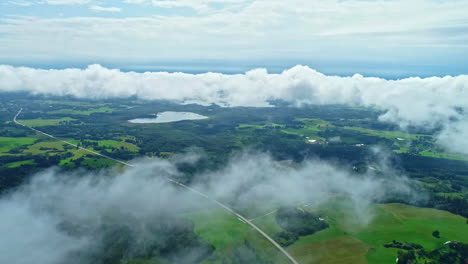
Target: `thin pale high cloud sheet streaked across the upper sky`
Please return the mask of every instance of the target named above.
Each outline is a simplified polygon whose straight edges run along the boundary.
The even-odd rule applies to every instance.
[[[55,3],[84,0],[62,1]],[[212,3],[156,4],[202,8]],[[36,59],[371,57],[411,61],[415,56],[427,59],[430,53],[434,60],[441,56],[445,61],[447,53],[458,50],[463,57],[468,49],[466,1],[234,0],[221,5],[226,8],[195,16],[183,12],[164,16],[154,8],[150,17],[3,18],[0,34],[6,37],[0,54]]]

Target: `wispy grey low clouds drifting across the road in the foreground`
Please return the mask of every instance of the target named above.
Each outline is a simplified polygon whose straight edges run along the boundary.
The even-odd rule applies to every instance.
[[[64,263],[73,252],[100,248],[101,236],[113,225],[125,226],[134,241],[144,245],[147,240],[162,240],[148,237],[145,228],[150,223],[202,206],[194,194],[165,180],[179,175],[174,163],[144,160],[136,165],[115,176],[49,169],[1,197],[0,262]],[[372,218],[371,200],[411,193],[405,178],[391,169],[385,171],[389,175],[353,176],[349,170],[322,161],[293,168],[266,154],[244,154],[220,171],[198,175],[194,188],[235,208],[298,202],[319,205],[341,193],[353,201],[365,224]],[[63,226],[84,231],[77,235]],[[127,254],[131,257],[132,252]]]

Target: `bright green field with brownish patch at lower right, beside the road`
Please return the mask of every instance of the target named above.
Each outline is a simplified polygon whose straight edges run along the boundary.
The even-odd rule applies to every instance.
[[[426,249],[441,247],[444,242],[468,242],[466,218],[446,211],[417,208],[403,204],[374,204],[368,224],[358,219],[352,204],[335,200],[320,208],[330,227],[300,239],[287,250],[302,264],[306,263],[394,263],[397,249],[384,244],[397,240],[422,245]],[[306,208],[304,208],[306,209]],[[281,229],[275,214],[255,220],[270,236]],[[439,230],[441,237],[432,236]]]

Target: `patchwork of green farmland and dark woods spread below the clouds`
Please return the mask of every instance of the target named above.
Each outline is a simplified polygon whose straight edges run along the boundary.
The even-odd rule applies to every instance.
[[[63,98],[38,98],[28,104],[17,98],[3,105],[0,190],[16,187],[31,172],[50,166],[59,166],[63,171],[78,168],[100,171],[117,165],[15,125],[11,119],[21,105],[24,107],[18,117],[21,123],[123,161],[140,157],[172,161],[178,155],[196,153],[201,157],[198,162],[178,165],[178,177],[184,183],[190,183],[205,171],[222,168],[233,155],[246,149],[269,153],[275,161],[286,162],[292,168],[312,158],[346,164],[342,169],[356,177],[369,171],[378,176],[385,167],[369,153],[382,149],[387,151],[389,166],[401,170],[426,194],[420,202],[404,197],[370,202],[372,217],[356,214],[353,204],[346,199],[332,199],[314,208],[302,206],[323,217],[329,227],[300,236],[286,247],[300,263],[394,263],[399,249],[384,247],[393,240],[416,243],[426,250],[440,248],[447,240],[467,242],[464,230],[468,215],[468,158],[441,149],[434,139],[437,131],[401,131],[382,125],[374,110],[336,106],[230,109]],[[168,110],[194,112],[209,119],[165,124],[128,122]],[[277,206],[270,206],[270,213],[265,216],[262,215],[268,212],[258,212],[254,207],[239,210],[252,218],[262,216],[254,223],[275,237],[284,231],[272,211]],[[225,211],[202,207],[180,217],[193,223],[197,237],[214,247],[205,264],[285,263],[268,242]],[[440,232],[440,238],[432,235],[435,230]],[[247,258],[240,257],[239,252],[244,252]],[[124,263],[155,262],[166,260],[135,259]]]

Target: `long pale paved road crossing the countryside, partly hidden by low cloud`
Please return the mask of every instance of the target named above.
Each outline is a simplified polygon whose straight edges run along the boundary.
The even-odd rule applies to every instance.
[[[44,133],[40,130],[37,130],[35,128],[32,128],[32,127],[28,127],[24,124],[21,124],[20,122],[18,122],[18,120],[16,120],[18,118],[18,116],[21,114],[21,112],[23,111],[23,108],[21,108],[18,113],[13,117],[13,122],[15,122],[16,124],[20,125],[20,126],[23,126],[23,127],[27,127],[37,133],[40,133],[44,136],[47,136],[47,137],[50,137],[52,139],[55,139],[57,141],[60,141],[60,142],[63,142],[65,144],[68,144],[68,145],[71,145],[71,146],[74,146],[75,148],[79,148],[79,149],[82,149],[84,151],[87,151],[89,153],[92,153],[94,155],[97,155],[97,156],[100,156],[100,157],[103,157],[103,158],[106,158],[106,159],[110,159],[110,160],[113,160],[115,162],[118,162],[120,164],[123,164],[125,166],[129,166],[129,167],[135,167],[135,165],[132,165],[130,163],[127,163],[127,162],[124,162],[124,161],[121,161],[121,160],[117,160],[117,159],[114,159],[114,158],[111,158],[109,156],[106,156],[106,155],[103,155],[101,153],[98,153],[98,152],[95,152],[95,151],[92,151],[92,150],[89,150],[89,149],[86,149],[86,148],[83,148],[83,147],[78,147],[76,144],[73,144],[71,142],[68,142],[68,141],[65,141],[65,140],[62,140],[62,139],[59,139],[53,135],[50,135],[50,134],[47,134],[47,133]],[[252,223],[250,220],[248,220],[247,218],[243,217],[242,215],[240,215],[239,213],[236,213],[233,209],[231,209],[230,207],[228,207],[227,205],[221,203],[220,201],[216,200],[216,199],[213,199],[211,197],[209,197],[208,195],[200,192],[200,191],[197,191],[183,183],[180,183],[172,178],[169,178],[169,177],[166,177],[166,179],[176,185],[179,185],[180,187],[186,189],[186,190],[189,190],[193,193],[196,193],[204,198],[206,198],[207,200],[211,201],[211,202],[214,202],[215,204],[217,204],[218,206],[220,206],[221,208],[225,209],[226,211],[230,212],[231,214],[237,216],[237,218],[239,218],[242,222],[248,224],[249,226],[251,226],[253,229],[255,229],[258,233],[260,233],[263,237],[265,237],[273,246],[275,246],[285,257],[288,258],[288,260],[293,263],[293,264],[299,264],[283,247],[281,247],[280,244],[278,244],[273,238],[271,238],[267,233],[265,233],[262,229],[260,229],[258,226],[256,226],[254,223]]]

